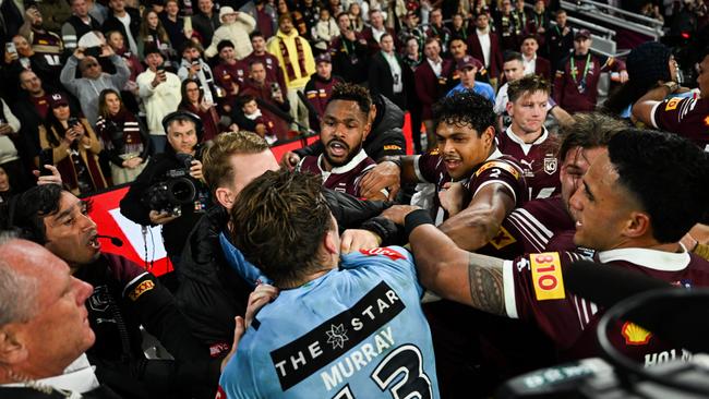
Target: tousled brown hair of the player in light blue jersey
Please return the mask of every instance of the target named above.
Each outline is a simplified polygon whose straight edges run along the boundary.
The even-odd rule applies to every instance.
[[[322,178],[281,169],[249,183],[231,208],[231,238],[278,287],[322,267],[319,249],[334,228]]]

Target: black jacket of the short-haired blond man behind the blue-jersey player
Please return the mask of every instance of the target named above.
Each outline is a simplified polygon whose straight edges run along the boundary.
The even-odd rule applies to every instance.
[[[366,220],[389,206],[332,190],[325,190],[324,195],[340,233],[349,228],[365,228]],[[245,314],[249,293],[253,290],[253,282],[245,281],[225,259],[219,233],[226,230],[228,220],[224,207],[209,209],[190,232],[177,268],[180,287],[176,297],[180,309],[190,323],[192,335],[217,356],[229,350],[233,341],[233,317]],[[366,229],[385,241],[397,234],[394,223],[382,220]]]

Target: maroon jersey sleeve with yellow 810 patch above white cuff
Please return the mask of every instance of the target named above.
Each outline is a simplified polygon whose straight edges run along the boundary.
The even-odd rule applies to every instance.
[[[534,322],[558,347],[572,347],[598,312],[593,303],[564,287],[563,268],[579,258],[574,253],[546,252],[505,262],[507,315]]]

